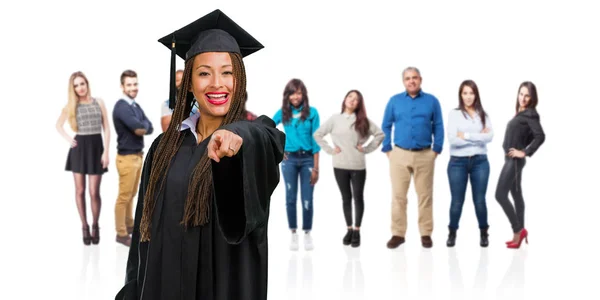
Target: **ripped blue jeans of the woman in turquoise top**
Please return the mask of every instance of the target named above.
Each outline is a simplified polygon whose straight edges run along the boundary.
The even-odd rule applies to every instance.
[[[313,190],[310,175],[314,167],[314,156],[309,152],[286,152],[287,159],[281,162],[281,172],[285,181],[285,206],[290,229],[298,228],[296,206],[298,203],[298,177],[302,199],[302,230],[312,229]]]

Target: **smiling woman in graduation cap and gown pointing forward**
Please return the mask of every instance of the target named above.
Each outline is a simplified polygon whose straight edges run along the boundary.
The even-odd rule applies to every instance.
[[[267,299],[269,203],[285,134],[265,116],[245,120],[242,61],[263,46],[219,10],[159,41],[185,69],[172,122],[144,162],[116,299]]]

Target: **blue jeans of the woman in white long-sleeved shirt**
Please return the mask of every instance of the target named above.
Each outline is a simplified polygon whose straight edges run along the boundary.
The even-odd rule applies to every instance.
[[[450,225],[448,225],[450,230],[458,229],[469,179],[471,180],[471,191],[479,228],[488,228],[485,194],[489,176],[490,164],[485,154],[470,157],[450,157],[448,163],[448,181],[450,182],[450,193],[452,194]]]

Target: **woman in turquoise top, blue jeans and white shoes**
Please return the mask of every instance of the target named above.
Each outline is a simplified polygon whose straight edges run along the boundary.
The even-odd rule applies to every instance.
[[[298,178],[300,178],[300,195],[302,206],[302,230],[304,231],[304,249],[312,250],[313,240],[310,235],[313,219],[313,191],[319,179],[319,151],[321,147],[313,138],[319,128],[319,113],[308,105],[306,86],[300,79],[290,80],[283,90],[281,109],[273,117],[275,124],[283,123],[286,133],[285,158],[281,163],[283,180],[285,181],[285,206],[288,226],[292,231],[290,250],[296,251],[298,245]]]

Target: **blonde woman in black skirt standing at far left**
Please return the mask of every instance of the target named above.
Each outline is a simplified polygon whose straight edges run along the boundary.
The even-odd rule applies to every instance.
[[[64,130],[67,121],[76,133],[74,137],[70,137]],[[73,172],[75,179],[75,200],[83,229],[83,243],[96,245],[100,242],[100,181],[108,171],[110,127],[104,101],[91,96],[89,81],[82,72],[75,72],[69,78],[69,98],[56,122],[56,130],[71,145],[65,169]],[[85,204],[86,175],[92,204],[91,233]]]

